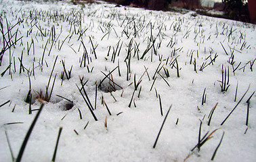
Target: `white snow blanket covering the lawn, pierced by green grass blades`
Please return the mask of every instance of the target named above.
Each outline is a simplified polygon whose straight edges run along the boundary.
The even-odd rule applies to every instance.
[[[14,158],[17,158],[24,137],[41,105],[38,93],[42,91],[45,97],[45,87],[57,56],[49,83],[50,90],[56,75],[51,99],[49,102],[44,101],[43,111],[28,139],[22,161],[51,161],[59,128],[63,130],[56,161],[211,161],[223,132],[225,134],[214,161],[255,161],[255,25],[200,16],[194,12],[183,15],[115,7],[104,2],[72,5],[70,1],[2,0],[0,3],[1,24],[3,33],[6,33],[6,41],[3,34],[0,36],[0,46],[3,48],[9,39],[14,43],[23,36],[15,47],[12,46],[1,54],[1,74],[10,62],[12,64],[0,81],[0,104],[10,101],[0,107],[0,161],[12,161],[10,150]],[[22,21],[14,26],[19,20]],[[145,49],[152,46],[150,26],[153,39],[156,38],[154,47],[140,59]],[[51,28],[55,28],[55,37],[50,34]],[[54,41],[51,38],[54,38]],[[84,53],[81,41],[89,57],[89,64],[86,59],[85,67],[83,63],[80,67]],[[127,59],[125,62],[125,58],[130,42],[131,71],[127,80],[129,61]],[[52,43],[54,44],[51,48]],[[118,43],[119,47],[116,48]],[[120,47],[120,53],[116,53],[113,61],[113,49],[119,51]],[[137,47],[139,51],[135,53]],[[19,59],[22,53],[24,72],[21,70],[20,73]],[[175,59],[179,67],[179,77]],[[70,79],[64,76],[63,82],[62,60],[66,71],[70,71],[72,66]],[[200,71],[203,63],[207,67]],[[119,68],[116,68],[118,65],[121,76]],[[159,69],[162,66],[163,68],[156,73],[154,81],[152,78],[158,65]],[[222,66],[224,70],[226,68],[227,75],[229,70],[230,87],[226,92],[221,92],[220,86]],[[148,74],[145,71],[147,68]],[[169,71],[169,77],[164,68]],[[95,82],[99,85],[105,77],[104,74],[107,75],[112,70],[114,72],[110,78],[123,89],[115,85],[116,90],[110,93],[97,88],[97,106],[93,113],[98,121],[95,121],[77,88],[81,88],[79,76],[83,77],[83,84],[88,80],[84,88],[94,107]],[[32,114],[28,114],[29,104],[25,102],[29,90],[28,74],[33,97]],[[134,76],[136,84],[142,76],[137,90],[134,90]],[[108,87],[108,82],[110,80],[107,78],[102,87]],[[237,84],[237,97],[234,101]],[[202,105],[204,90],[207,99]],[[65,110],[70,102],[56,94],[72,101],[74,107]],[[249,124],[246,126],[246,102],[252,94],[249,102]],[[158,95],[161,97],[163,115]],[[132,96],[131,106],[128,107]],[[102,97],[112,115],[108,113],[106,105],[102,104]],[[211,125],[208,126],[209,113],[216,104]],[[156,148],[152,148],[170,106],[171,110]],[[232,109],[234,111],[221,126],[221,122]],[[200,151],[198,148],[191,151],[198,144],[200,120],[201,139],[207,132],[210,134],[216,129],[217,131],[211,135],[213,138],[200,147]],[[89,124],[85,128],[88,121]],[[104,126],[105,121],[107,127]],[[9,124],[13,122],[21,123]]]

